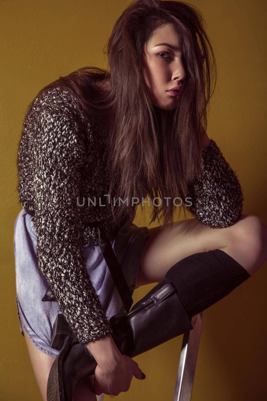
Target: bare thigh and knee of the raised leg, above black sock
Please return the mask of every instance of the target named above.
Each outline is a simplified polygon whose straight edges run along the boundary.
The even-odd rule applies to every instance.
[[[263,261],[256,260],[256,252],[256,256],[251,253],[255,261],[249,260],[246,252],[246,248],[252,246],[251,237],[258,237],[258,225],[261,224],[258,224],[254,216],[242,214],[233,225],[220,229],[208,227],[194,218],[177,221],[167,229],[149,229],[150,236],[141,253],[136,287],[159,283],[178,261],[212,249],[224,250],[244,268],[249,269],[253,263],[255,266],[260,265]],[[247,238],[247,243],[242,238]]]

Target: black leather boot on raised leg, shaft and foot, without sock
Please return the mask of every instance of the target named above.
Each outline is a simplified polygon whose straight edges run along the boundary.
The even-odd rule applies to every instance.
[[[48,401],[72,401],[76,385],[91,376],[97,365],[86,345],[77,341],[64,320],[64,316],[58,314],[52,334],[51,346],[60,349],[60,353],[49,373]],[[110,324],[117,348],[130,357],[193,328],[175,287],[166,279],[137,302],[130,312],[112,316]]]

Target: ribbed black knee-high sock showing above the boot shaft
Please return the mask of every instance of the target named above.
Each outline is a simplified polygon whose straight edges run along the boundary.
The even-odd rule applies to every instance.
[[[249,277],[251,275],[221,249],[187,256],[165,275],[177,288],[189,318],[224,298]]]

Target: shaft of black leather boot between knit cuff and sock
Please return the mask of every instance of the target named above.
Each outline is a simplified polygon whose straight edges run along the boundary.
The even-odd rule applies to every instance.
[[[143,354],[192,330],[175,286],[163,279],[130,312],[110,318],[112,338],[122,354]]]

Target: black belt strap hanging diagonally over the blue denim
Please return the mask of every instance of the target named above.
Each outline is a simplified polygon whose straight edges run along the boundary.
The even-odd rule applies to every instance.
[[[26,209],[26,207],[24,207],[24,210],[29,215],[35,216],[35,212],[33,210]],[[103,222],[102,221],[93,221],[93,222],[90,222],[88,225],[96,226],[98,229],[98,243],[99,243],[100,249],[102,251],[102,254],[104,256],[104,259],[106,261],[108,269],[110,270],[110,273],[112,275],[114,283],[116,284],[116,287],[118,289],[118,293],[120,294],[120,298],[124,305],[125,311],[129,312],[130,307],[132,306],[132,303],[133,303],[133,299],[132,299],[132,296],[130,293],[130,288],[128,287],[128,284],[126,282],[126,279],[124,277],[124,274],[122,272],[120,264],[118,263],[118,259],[116,258],[116,255],[112,249],[110,241],[106,235],[106,232],[104,231],[104,228],[102,227]],[[46,299],[44,299],[44,300],[46,300]]]

